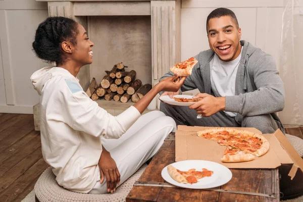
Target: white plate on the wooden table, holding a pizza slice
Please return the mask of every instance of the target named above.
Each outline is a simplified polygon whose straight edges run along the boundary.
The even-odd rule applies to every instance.
[[[193,184],[183,184],[175,181],[168,173],[167,166],[162,170],[161,175],[165,181],[173,185],[190,188],[190,189],[207,189],[221,186],[227,183],[231,177],[231,171],[225,166],[212,161],[204,160],[186,160],[170,164],[173,167],[181,171],[187,171],[189,169],[195,168],[197,171],[201,171],[206,168],[210,171],[214,171],[211,177],[204,177],[198,180],[197,183]]]

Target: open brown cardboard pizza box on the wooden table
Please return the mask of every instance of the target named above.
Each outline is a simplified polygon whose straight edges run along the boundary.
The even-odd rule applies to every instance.
[[[292,169],[288,174],[291,178],[294,177],[298,168],[303,171],[303,160],[279,129],[273,134],[262,134],[256,128],[236,128],[262,134],[269,141],[270,149],[265,155],[256,157],[253,161],[224,163],[221,162],[221,158],[226,146],[221,146],[213,140],[198,137],[196,134],[197,131],[210,128],[212,127],[179,125],[176,131],[175,161],[207,160],[222,164],[227,168],[247,169],[274,169],[281,164],[292,164]]]

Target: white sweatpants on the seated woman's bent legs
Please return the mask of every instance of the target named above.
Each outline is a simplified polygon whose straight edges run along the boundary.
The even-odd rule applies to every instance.
[[[120,172],[120,184],[153,157],[167,135],[176,130],[175,121],[163,112],[153,111],[142,115],[119,139],[102,138],[103,146],[110,151]],[[98,176],[99,179],[99,176]],[[106,180],[89,193],[107,193]]]

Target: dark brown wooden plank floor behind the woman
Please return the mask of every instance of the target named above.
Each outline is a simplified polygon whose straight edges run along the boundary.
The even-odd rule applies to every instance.
[[[286,133],[303,139],[303,127]],[[21,201],[48,167],[41,154],[33,115],[0,114],[0,201]]]

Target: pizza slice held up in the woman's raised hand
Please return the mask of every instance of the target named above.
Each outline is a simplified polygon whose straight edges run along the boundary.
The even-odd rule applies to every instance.
[[[179,76],[189,76],[193,66],[197,63],[198,61],[195,58],[190,58],[181,63],[177,63],[174,67],[170,68],[170,71]]]

